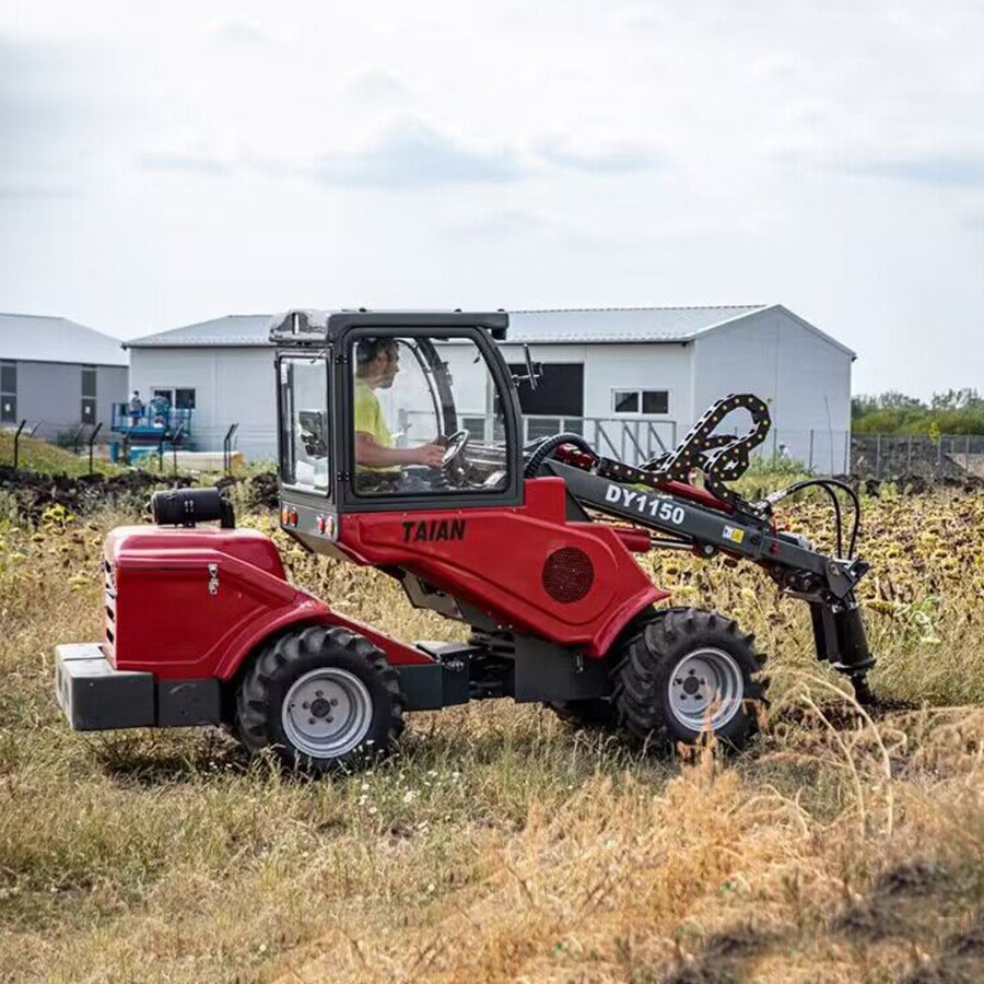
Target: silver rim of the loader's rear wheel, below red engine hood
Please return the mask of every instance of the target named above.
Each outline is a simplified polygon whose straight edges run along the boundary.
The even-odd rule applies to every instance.
[[[365,738],[373,721],[373,699],[354,673],[323,667],[294,681],[284,698],[281,721],[297,751],[313,759],[337,759]]]

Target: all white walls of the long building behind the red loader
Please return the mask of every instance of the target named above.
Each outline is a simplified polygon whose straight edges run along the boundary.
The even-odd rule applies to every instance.
[[[502,350],[506,362],[524,361],[522,345],[504,344]],[[631,414],[617,418],[637,427],[634,437],[644,452],[659,450],[654,434],[670,444],[716,399],[750,390],[769,401],[776,429],[775,437],[763,448],[765,453],[782,442],[793,457],[804,461],[812,453],[818,470],[843,469],[841,459],[851,420],[851,356],[781,309],[742,318],[733,327],[686,344],[546,344],[531,345],[530,352],[537,362],[584,365],[586,418],[616,419],[613,389],[667,389],[669,412],[653,419],[656,423],[649,433],[651,419]],[[484,372],[473,363],[473,352],[444,345],[443,354],[461,395],[459,411],[483,414]],[[236,446],[248,459],[276,458],[272,348],[132,349],[130,380],[130,388],[139,389],[144,399],[155,387],[195,388],[196,447],[221,449],[230,424],[238,423]],[[79,386],[73,391],[79,391]],[[78,414],[78,407],[74,412]],[[736,423],[741,425],[740,421]],[[396,429],[398,422],[393,421],[391,426]],[[585,437],[597,442],[594,425],[587,426]],[[614,442],[614,446],[599,443],[604,453],[618,455],[630,449],[619,444],[618,426],[604,426]],[[633,437],[628,440],[631,443]]]

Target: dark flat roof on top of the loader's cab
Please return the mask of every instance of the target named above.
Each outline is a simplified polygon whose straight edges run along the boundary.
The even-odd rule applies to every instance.
[[[292,308],[270,319],[270,341],[280,345],[326,344],[349,328],[484,328],[504,341],[509,316],[504,311],[316,311]]]

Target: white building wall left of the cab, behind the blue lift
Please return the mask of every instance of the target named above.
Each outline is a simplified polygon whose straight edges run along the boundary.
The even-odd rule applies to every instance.
[[[277,384],[272,348],[130,350],[130,389],[147,402],[155,388],[195,389],[191,436],[199,450],[221,450],[237,423],[235,447],[248,460],[277,456]]]

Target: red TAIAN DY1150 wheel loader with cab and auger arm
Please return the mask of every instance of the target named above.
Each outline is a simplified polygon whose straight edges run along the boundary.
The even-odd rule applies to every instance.
[[[225,724],[250,751],[320,773],[386,751],[409,711],[513,698],[656,743],[711,731],[740,748],[763,657],[727,616],[659,605],[668,593],[633,558],[652,549],[763,567],[809,605],[818,657],[868,700],[853,492],[812,479],[752,503],[729,488],[770,426],[749,394],[642,467],[577,434],[524,445],[517,385],[539,373],[528,353],[506,364],[507,327],[504,313],[367,311],[293,311],[271,327],[281,527],[386,572],[467,642],[390,639],[292,585],[218,490],[159,492],[156,525],[106,538],[103,641],[57,648],[71,726]],[[807,484],[837,506],[836,557],[773,522]],[[840,493],[854,506],[846,550]]]

